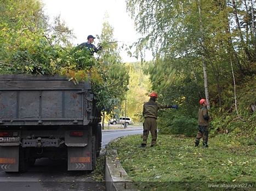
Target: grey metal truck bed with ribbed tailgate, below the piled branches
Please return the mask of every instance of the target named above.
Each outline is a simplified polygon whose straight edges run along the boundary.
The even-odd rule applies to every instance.
[[[0,127],[98,123],[89,82],[57,75],[0,75]]]

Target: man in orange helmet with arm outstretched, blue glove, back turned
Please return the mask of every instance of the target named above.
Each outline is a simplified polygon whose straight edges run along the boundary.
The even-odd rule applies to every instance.
[[[178,109],[177,105],[163,105],[156,102],[157,94],[152,92],[150,94],[149,102],[146,102],[143,105],[143,116],[145,121],[143,123],[143,143],[139,147],[146,147],[147,145],[147,137],[149,136],[149,132],[152,136],[151,147],[156,144],[157,139],[157,127],[156,127],[156,119],[157,119],[157,111],[159,109],[164,108],[176,108]]]

